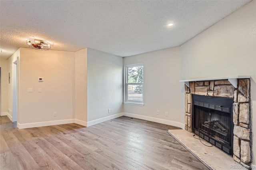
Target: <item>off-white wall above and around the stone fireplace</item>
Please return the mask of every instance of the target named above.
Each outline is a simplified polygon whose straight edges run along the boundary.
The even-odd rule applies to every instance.
[[[181,79],[252,77],[253,163],[256,164],[256,1],[181,46]],[[184,95],[181,93],[181,95]],[[181,98],[182,105],[184,98]],[[184,110],[181,111],[181,114]]]

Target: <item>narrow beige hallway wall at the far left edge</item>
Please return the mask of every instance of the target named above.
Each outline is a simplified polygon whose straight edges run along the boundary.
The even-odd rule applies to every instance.
[[[8,67],[7,60],[1,59],[1,113],[8,112]]]

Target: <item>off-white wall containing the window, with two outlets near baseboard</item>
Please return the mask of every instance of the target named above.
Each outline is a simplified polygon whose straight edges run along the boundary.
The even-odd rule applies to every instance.
[[[180,47],[124,57],[124,65],[137,63],[144,64],[144,106],[125,104],[124,112],[180,123]]]

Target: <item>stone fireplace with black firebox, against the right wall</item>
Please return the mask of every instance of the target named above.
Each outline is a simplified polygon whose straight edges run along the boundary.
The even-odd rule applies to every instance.
[[[226,99],[229,103],[232,100],[228,106],[226,103],[210,103],[211,99],[220,99],[220,102]],[[204,116],[195,116],[198,108],[200,115]],[[186,130],[208,139],[208,142],[231,154],[236,162],[244,166],[251,164],[250,78],[185,82],[185,112]],[[220,120],[225,114],[227,118]]]

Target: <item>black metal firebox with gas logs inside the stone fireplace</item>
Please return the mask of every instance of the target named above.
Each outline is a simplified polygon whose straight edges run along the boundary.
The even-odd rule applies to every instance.
[[[233,99],[193,95],[192,131],[233,155]]]

